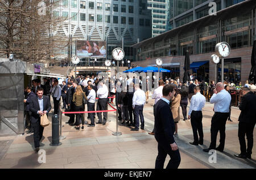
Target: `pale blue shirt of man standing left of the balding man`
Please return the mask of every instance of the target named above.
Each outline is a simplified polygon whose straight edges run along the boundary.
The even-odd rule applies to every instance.
[[[192,111],[201,111],[204,105],[205,105],[205,97],[200,92],[197,92],[191,98],[188,115],[190,116]]]

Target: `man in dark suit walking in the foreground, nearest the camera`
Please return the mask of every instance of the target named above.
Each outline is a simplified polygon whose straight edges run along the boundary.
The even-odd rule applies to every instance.
[[[167,154],[171,157],[166,169],[177,169],[180,165],[180,152],[174,140],[175,124],[170,108],[175,86],[165,85],[163,97],[155,104],[155,139],[158,141],[158,156],[155,169],[163,169]]]

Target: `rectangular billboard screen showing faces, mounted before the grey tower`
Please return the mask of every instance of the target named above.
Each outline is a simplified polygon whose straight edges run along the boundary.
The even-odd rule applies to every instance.
[[[76,55],[79,57],[106,57],[106,41],[77,40]]]

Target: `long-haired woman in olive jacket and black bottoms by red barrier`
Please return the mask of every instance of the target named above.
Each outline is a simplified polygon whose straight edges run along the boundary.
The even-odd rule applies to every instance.
[[[82,91],[82,87],[80,85],[76,86],[76,93],[73,94],[73,102],[75,104],[75,111],[84,111],[84,101],[88,100],[84,91]],[[84,114],[76,114],[76,129],[80,129],[80,118],[82,122],[82,129],[84,129]]]

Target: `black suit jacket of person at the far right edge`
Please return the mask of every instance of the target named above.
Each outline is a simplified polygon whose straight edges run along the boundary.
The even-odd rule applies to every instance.
[[[242,101],[239,105],[241,110],[238,121],[245,123],[256,122],[256,95],[253,92],[249,92],[242,97]]]

